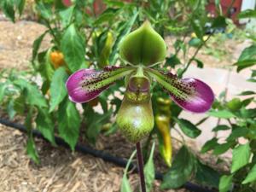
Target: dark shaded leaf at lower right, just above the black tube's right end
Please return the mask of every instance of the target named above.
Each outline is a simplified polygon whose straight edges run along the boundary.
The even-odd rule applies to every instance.
[[[196,164],[195,180],[206,186],[218,188],[219,173],[212,167],[202,164],[199,160]]]

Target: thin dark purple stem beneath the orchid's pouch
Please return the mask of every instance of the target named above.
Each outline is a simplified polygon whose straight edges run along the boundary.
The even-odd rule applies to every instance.
[[[137,163],[138,163],[138,169],[139,169],[139,175],[141,179],[141,189],[142,192],[146,192],[146,184],[145,184],[145,176],[143,171],[143,153],[141,148],[141,143],[136,143],[137,148]]]

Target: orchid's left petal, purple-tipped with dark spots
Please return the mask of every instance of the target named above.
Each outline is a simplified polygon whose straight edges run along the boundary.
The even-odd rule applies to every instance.
[[[131,73],[131,67],[106,67],[97,72],[93,69],[81,69],[67,79],[67,92],[73,102],[89,102],[108,89],[114,81]]]

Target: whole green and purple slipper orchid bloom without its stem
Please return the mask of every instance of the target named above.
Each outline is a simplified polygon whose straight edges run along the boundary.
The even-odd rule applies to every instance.
[[[157,81],[178,106],[203,113],[212,106],[212,89],[199,79],[178,79],[169,72],[155,70],[166,57],[166,44],[148,21],[128,34],[119,46],[128,65],[105,67],[102,71],[81,69],[67,79],[67,91],[73,102],[89,102],[118,79],[125,78],[125,96],[117,114],[119,129],[132,143],[146,137],[154,127],[150,84]]]

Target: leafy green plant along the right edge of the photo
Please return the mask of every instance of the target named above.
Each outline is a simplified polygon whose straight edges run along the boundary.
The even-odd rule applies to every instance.
[[[241,12],[239,18],[255,17],[254,10]],[[255,61],[255,39],[249,36],[253,43],[243,49],[238,61],[234,64],[237,73],[247,67],[253,67]],[[251,77],[247,81],[255,83],[256,71],[251,70]],[[225,138],[225,142],[219,144],[219,137],[213,137],[201,148],[202,153],[209,150],[213,154],[224,154],[227,150],[232,150],[232,162],[230,171],[226,172],[219,182],[219,191],[255,191],[256,172],[255,172],[255,128],[256,128],[256,108],[255,91],[246,90],[237,97],[226,101],[225,92],[219,96],[209,114],[225,119],[227,124],[217,125],[212,131],[230,130],[230,135]]]

